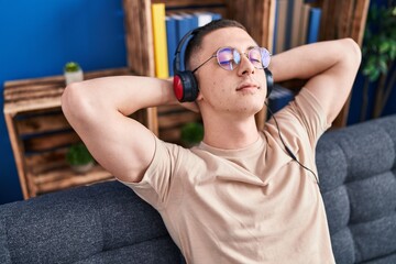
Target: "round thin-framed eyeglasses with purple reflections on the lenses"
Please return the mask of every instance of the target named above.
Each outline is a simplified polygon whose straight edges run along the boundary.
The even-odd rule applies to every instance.
[[[265,47],[251,47],[248,50],[248,53],[242,54],[245,55],[257,69],[266,68],[270,65],[271,53]],[[221,68],[226,70],[233,70],[241,64],[242,54],[234,47],[220,47],[210,58],[196,67],[193,70],[193,74],[213,57],[217,58]]]

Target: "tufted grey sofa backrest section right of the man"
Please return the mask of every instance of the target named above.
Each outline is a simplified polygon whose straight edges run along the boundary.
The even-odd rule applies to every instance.
[[[396,116],[327,132],[316,155],[337,263],[396,263]]]

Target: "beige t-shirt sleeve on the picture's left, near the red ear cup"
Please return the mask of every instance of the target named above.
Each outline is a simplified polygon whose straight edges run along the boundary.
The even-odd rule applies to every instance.
[[[154,157],[140,183],[122,182],[155,209],[166,206],[174,184],[173,172],[182,147],[166,143],[155,136]],[[175,194],[172,194],[175,195]]]

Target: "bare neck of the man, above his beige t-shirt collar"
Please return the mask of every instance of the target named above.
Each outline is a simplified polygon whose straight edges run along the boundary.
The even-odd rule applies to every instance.
[[[209,119],[204,121],[204,142],[210,146],[223,150],[243,148],[258,139],[254,117],[237,119]]]

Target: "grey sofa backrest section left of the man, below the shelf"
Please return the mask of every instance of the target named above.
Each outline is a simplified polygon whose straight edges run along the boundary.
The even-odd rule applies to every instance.
[[[0,207],[0,263],[179,263],[160,215],[118,182]]]

